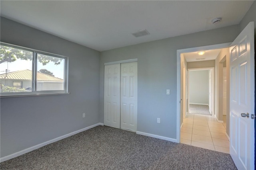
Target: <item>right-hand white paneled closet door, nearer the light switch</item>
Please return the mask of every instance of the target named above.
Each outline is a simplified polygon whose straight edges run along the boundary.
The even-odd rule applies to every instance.
[[[121,128],[137,130],[137,62],[121,64]]]

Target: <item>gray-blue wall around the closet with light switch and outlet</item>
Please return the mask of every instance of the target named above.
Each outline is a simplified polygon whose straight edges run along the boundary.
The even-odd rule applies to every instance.
[[[238,33],[238,25],[233,25],[101,52],[100,121],[104,121],[104,63],[138,58],[137,130],[176,139],[177,50],[232,42]]]

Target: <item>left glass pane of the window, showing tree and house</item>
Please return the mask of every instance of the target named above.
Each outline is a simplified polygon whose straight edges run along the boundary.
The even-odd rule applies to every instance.
[[[0,53],[1,96],[2,93],[29,92],[22,88],[22,82],[23,86],[32,86],[33,52],[0,45]]]

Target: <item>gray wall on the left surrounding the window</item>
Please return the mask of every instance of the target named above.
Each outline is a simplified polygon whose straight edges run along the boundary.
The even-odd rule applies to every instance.
[[[1,18],[1,41],[69,57],[69,95],[1,98],[1,157],[99,123],[100,53]],[[86,117],[82,118],[82,113]],[[102,115],[101,115],[102,116]]]

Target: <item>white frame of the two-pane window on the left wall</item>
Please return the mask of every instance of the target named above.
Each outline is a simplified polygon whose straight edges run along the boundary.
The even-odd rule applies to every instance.
[[[45,95],[58,95],[58,94],[69,94],[68,92],[68,57],[57,55],[54,53],[48,53],[45,51],[30,49],[26,47],[21,47],[18,45],[12,45],[9,43],[0,42],[0,45],[6,46],[6,47],[12,47],[16,49],[31,51],[33,53],[33,59],[32,59],[32,83],[31,88],[32,92],[4,92],[0,93],[0,98],[6,98],[6,97],[22,97],[22,96],[45,96]],[[44,90],[44,91],[36,91],[36,74],[37,74],[37,54],[42,55],[49,55],[52,57],[58,57],[61,59],[64,59],[64,90]]]

